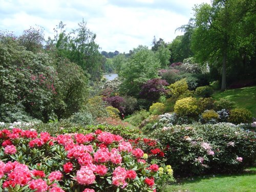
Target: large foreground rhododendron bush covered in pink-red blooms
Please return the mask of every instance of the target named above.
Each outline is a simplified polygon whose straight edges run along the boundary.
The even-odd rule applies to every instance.
[[[140,148],[100,130],[52,137],[14,128],[0,131],[0,143],[0,187],[9,191],[153,191],[159,178]]]

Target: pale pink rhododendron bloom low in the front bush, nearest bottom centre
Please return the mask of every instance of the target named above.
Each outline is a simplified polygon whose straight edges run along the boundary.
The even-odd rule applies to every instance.
[[[94,183],[95,175],[91,169],[82,166],[76,173],[76,180],[81,185],[89,185]]]

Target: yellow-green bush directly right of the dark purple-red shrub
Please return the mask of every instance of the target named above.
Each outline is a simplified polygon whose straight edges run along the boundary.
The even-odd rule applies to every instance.
[[[173,97],[179,97],[185,94],[186,92],[188,92],[188,85],[187,85],[186,78],[183,78],[179,81],[176,81],[173,84],[170,84],[168,86],[168,89],[170,90],[170,94]]]

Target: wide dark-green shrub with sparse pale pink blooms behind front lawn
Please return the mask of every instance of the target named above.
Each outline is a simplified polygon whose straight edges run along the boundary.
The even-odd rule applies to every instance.
[[[179,175],[237,172],[254,162],[255,136],[231,123],[160,127],[150,134],[162,146],[170,146],[165,157]]]

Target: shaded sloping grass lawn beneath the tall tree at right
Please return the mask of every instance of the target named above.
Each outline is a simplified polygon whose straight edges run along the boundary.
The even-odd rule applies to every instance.
[[[256,117],[256,86],[216,92],[212,97],[215,99],[225,98],[235,101],[237,102],[237,107],[250,110],[252,116]]]

